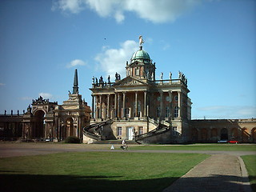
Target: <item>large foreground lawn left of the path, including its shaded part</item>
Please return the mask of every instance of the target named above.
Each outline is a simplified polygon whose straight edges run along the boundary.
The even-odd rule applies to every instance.
[[[0,158],[0,191],[162,191],[207,157],[78,152]]]

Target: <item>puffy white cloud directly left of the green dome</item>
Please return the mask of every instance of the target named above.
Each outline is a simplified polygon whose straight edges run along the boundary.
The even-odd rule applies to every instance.
[[[126,61],[130,61],[132,54],[138,50],[138,42],[131,40],[121,43],[120,46],[119,49],[102,47],[102,53],[94,58],[98,62],[98,68],[103,70],[106,76],[110,75],[112,81],[116,72],[121,74],[121,78],[126,76]]]

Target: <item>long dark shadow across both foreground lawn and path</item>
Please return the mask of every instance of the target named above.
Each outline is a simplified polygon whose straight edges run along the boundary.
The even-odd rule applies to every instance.
[[[117,178],[118,180],[114,180]],[[162,191],[177,178],[155,178],[142,180],[122,180],[122,176],[74,176],[74,175],[28,175],[0,174],[0,191],[47,191],[47,192],[150,192]],[[170,191],[242,191],[243,178],[236,176],[212,175],[207,178],[181,178]],[[177,185],[176,185],[177,184]],[[200,191],[200,188],[199,188]]]

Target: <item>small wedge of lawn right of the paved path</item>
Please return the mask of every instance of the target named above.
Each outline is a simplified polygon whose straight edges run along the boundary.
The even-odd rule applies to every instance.
[[[242,156],[242,160],[246,164],[246,170],[249,174],[250,185],[256,191],[256,155]]]

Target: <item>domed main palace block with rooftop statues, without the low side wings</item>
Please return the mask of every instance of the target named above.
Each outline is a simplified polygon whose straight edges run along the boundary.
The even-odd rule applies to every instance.
[[[155,62],[140,45],[126,62],[126,78],[121,79],[117,73],[114,82],[110,77],[108,82],[102,77],[99,81],[93,78],[90,123],[108,122],[101,126],[104,139],[186,142],[192,104],[187,79],[180,72],[178,79],[170,73],[170,79],[161,76],[156,80],[155,69]],[[93,142],[92,133],[85,132],[89,133],[84,142]],[[156,137],[147,137],[152,133]]]

